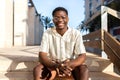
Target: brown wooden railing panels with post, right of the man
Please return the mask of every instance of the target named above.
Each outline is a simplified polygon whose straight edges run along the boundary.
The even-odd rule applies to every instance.
[[[97,48],[104,51],[111,62],[120,68],[120,42],[105,30],[97,30],[83,36],[85,47]]]

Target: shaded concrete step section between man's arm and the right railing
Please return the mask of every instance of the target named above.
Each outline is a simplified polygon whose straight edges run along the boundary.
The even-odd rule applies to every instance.
[[[93,53],[87,53],[86,64],[90,71],[113,72],[113,63],[109,59],[103,59]]]

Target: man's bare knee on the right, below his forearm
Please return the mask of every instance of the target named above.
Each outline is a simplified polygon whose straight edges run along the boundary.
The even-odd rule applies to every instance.
[[[87,65],[81,65],[72,71],[72,75],[75,80],[88,80],[88,72]]]

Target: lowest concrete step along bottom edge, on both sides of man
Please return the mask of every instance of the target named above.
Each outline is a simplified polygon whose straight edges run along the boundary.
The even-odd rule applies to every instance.
[[[0,80],[33,80],[32,72],[1,72]],[[56,78],[55,80],[73,80],[68,78]],[[90,72],[89,80],[120,80],[115,73]]]

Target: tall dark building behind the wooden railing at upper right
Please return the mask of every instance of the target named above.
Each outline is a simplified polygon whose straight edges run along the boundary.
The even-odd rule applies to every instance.
[[[85,0],[85,20],[84,25],[87,26],[90,32],[101,29],[101,6],[109,7],[119,13],[120,11],[119,0]],[[114,14],[114,13],[113,13]],[[117,15],[118,17],[120,14]],[[107,28],[114,37],[120,40],[120,19],[114,15],[107,14]]]

